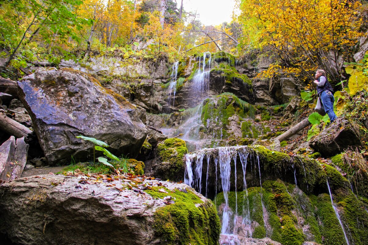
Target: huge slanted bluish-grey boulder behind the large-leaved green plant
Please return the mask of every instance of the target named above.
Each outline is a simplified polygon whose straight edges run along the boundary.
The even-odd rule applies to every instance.
[[[87,156],[92,145],[75,138],[79,134],[105,141],[114,154],[132,157],[147,135],[134,105],[83,72],[43,68],[18,86],[50,165]]]

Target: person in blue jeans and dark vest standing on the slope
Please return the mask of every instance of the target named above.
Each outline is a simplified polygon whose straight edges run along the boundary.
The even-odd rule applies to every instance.
[[[335,97],[333,97],[333,89],[331,84],[326,78],[326,72],[323,70],[317,70],[315,75],[316,80],[314,83],[317,85],[317,94],[322,101],[325,112],[330,118],[330,122],[336,120],[337,116],[333,111],[333,102],[335,102]]]

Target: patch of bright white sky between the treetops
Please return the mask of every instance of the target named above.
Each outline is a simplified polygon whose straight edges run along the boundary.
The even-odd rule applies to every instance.
[[[180,0],[177,1],[180,8]],[[230,22],[234,8],[234,0],[184,0],[185,11],[197,10],[199,19],[205,25],[219,25]]]

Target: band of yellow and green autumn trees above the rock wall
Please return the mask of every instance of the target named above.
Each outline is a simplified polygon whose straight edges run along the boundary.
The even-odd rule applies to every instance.
[[[339,59],[352,61],[367,29],[362,1],[240,0],[236,7],[230,23],[205,26],[181,0],[0,0],[0,75],[116,52],[173,62],[223,50],[272,56],[260,76],[307,79],[323,68],[337,83],[344,77]]]

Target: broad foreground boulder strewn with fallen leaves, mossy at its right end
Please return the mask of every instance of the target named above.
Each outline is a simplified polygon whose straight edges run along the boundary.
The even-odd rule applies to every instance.
[[[102,180],[41,175],[4,184],[0,187],[1,232],[6,232],[13,242],[24,245],[153,245],[163,244],[165,240],[182,244],[178,240],[185,238],[192,244],[217,244],[216,210],[212,202],[188,185],[133,178],[130,182],[113,179],[102,183]],[[141,184],[128,190],[135,180]],[[139,190],[140,186],[150,189],[144,192]],[[176,230],[169,234],[173,237],[169,237],[165,233],[169,226],[165,225],[169,225],[170,215],[178,219],[173,209],[183,203],[181,197],[196,200],[197,204],[192,203],[190,207],[191,212],[199,216],[193,220],[182,207],[187,216],[180,216],[180,222],[188,222],[187,231],[180,230],[177,223],[171,221],[170,227]],[[206,237],[207,242],[196,240],[202,237]]]

